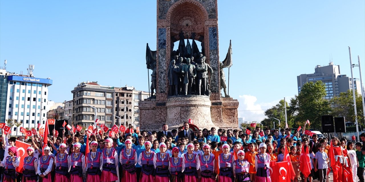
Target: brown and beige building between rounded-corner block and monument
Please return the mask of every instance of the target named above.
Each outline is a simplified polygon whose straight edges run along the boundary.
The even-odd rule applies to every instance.
[[[139,125],[138,102],[149,98],[149,92],[137,91],[134,87],[125,86],[114,88],[115,90],[115,115],[121,119],[116,119],[116,124]]]

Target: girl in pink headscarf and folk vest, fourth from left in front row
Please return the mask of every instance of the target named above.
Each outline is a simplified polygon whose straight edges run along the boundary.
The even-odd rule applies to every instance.
[[[69,155],[65,153],[67,146],[65,143],[59,144],[59,153],[55,156],[55,177],[54,182],[69,182],[70,174],[68,172]]]

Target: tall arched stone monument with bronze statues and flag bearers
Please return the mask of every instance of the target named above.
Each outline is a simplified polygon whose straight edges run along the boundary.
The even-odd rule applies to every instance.
[[[217,0],[157,0],[157,51],[147,44],[146,61],[155,95],[139,102],[141,129],[189,118],[199,128],[238,127],[238,101],[221,95]]]

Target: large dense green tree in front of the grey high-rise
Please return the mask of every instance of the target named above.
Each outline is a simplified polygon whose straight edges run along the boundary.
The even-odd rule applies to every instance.
[[[294,108],[297,108],[295,120],[299,123],[310,120],[311,125],[307,129],[320,130],[322,127],[322,115],[328,115],[331,111],[330,102],[324,99],[326,87],[322,81],[308,82],[303,85],[300,93],[293,100]],[[296,111],[294,111],[296,112]]]

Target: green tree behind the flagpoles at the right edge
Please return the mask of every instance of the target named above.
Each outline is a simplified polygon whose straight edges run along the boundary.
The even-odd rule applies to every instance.
[[[364,116],[362,109],[361,95],[355,92],[356,98],[356,111],[357,120],[362,125],[364,124]],[[345,116],[346,122],[355,122],[355,110],[354,110],[354,100],[352,90],[347,90],[347,92],[341,92],[339,96],[335,96],[330,101],[332,103],[331,115],[334,117]]]

